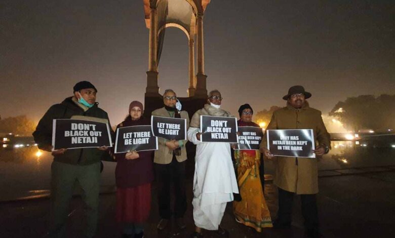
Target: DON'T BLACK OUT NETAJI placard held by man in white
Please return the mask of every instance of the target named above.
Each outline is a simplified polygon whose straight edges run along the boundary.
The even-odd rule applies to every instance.
[[[201,142],[238,143],[236,117],[200,116]]]

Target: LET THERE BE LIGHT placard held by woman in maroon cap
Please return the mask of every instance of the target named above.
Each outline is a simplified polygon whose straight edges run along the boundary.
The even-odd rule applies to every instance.
[[[152,135],[151,126],[131,126],[116,129],[115,153],[155,149],[157,149],[157,137]]]

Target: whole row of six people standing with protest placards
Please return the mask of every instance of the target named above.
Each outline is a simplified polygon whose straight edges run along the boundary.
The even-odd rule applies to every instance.
[[[73,96],[51,106],[33,133],[38,147],[52,151],[54,155],[51,166],[49,235],[66,235],[65,222],[75,182],[78,182],[84,191],[87,218],[84,235],[95,235],[99,206],[100,161],[105,154],[111,154],[117,163],[116,219],[123,223],[124,237],[144,236],[143,226],[150,214],[151,183],[154,176],[161,217],[157,228],[165,229],[172,217],[179,228],[185,228],[187,140],[158,138],[159,147],[154,151],[113,153],[112,148],[105,146],[53,150],[51,142],[54,119],[78,118],[110,125],[107,113],[98,107],[96,93],[97,89],[90,82],[77,83],[73,88]],[[314,153],[323,155],[330,149],[330,137],[322,122],[321,112],[310,108],[305,101],[310,96],[311,94],[305,92],[301,86],[291,87],[288,94],[283,97],[287,101],[287,106],[273,113],[267,129],[313,129],[314,138],[319,143]],[[192,237],[203,237],[203,229],[216,230],[219,235],[228,237],[229,232],[223,229],[220,223],[226,204],[233,200],[236,221],[253,227],[258,232],[263,227],[290,227],[292,199],[295,193],[301,194],[306,235],[319,236],[315,199],[315,194],[318,193],[316,159],[273,156],[266,148],[265,136],[262,138],[260,150],[239,150],[229,143],[201,142],[201,115],[234,117],[221,108],[222,96],[218,90],[209,93],[207,104],[193,114],[190,122],[188,113],[181,109],[173,90],[165,91],[163,101],[164,107],[154,110],[152,115],[186,119],[187,139],[196,145],[192,199],[195,230]],[[143,104],[132,101],[128,115],[117,128],[150,125],[149,118],[145,118],[143,112]],[[253,109],[249,104],[239,108],[239,115],[238,126],[259,127],[252,122]],[[279,210],[273,224],[263,195],[261,152],[275,164],[273,181],[279,189]],[[173,209],[170,194],[172,185],[175,197]]]

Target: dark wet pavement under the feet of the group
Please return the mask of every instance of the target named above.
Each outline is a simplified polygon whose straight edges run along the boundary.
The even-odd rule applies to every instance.
[[[393,237],[395,232],[395,167],[392,170],[371,170],[367,173],[345,173],[322,176],[318,194],[320,227],[323,237]],[[266,181],[265,198],[272,219],[277,213],[277,187]],[[180,230],[172,222],[163,231],[156,229],[160,220],[156,187],[152,187],[151,214],[144,227],[144,237],[189,237],[194,229],[192,217],[192,179],[187,178],[188,209],[186,228]],[[81,237],[84,227],[83,203],[76,196],[71,201],[67,222],[69,237]],[[122,227],[115,221],[115,194],[100,195],[100,211],[96,237],[121,237]],[[42,197],[25,201],[0,203],[0,237],[45,237],[49,223],[49,199]],[[303,218],[299,196],[294,199],[293,222],[290,229],[264,228],[262,232],[237,223],[228,203],[221,223],[229,237],[303,237]],[[219,237],[205,231],[206,238]]]

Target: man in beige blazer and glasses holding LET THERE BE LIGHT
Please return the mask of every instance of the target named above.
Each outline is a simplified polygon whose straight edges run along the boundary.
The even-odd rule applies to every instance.
[[[189,127],[188,112],[181,111],[176,107],[177,95],[171,90],[165,90],[163,95],[164,107],[152,111],[152,115],[175,117],[186,119],[186,127]],[[179,104],[180,105],[180,104]],[[159,215],[161,220],[157,228],[163,230],[169,224],[174,215],[176,224],[179,228],[185,228],[184,214],[186,211],[186,193],[185,193],[185,161],[186,161],[186,140],[165,140],[157,138],[158,149],[155,150],[154,165],[156,172],[156,182],[158,186],[158,204]],[[174,184],[174,211],[170,206],[170,190]]]

